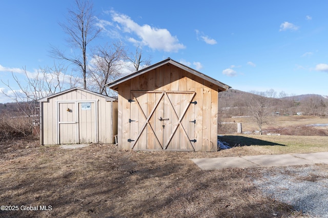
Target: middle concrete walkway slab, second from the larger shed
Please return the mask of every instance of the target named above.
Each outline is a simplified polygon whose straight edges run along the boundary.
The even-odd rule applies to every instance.
[[[242,158],[261,167],[314,164],[311,160],[295,157],[290,154],[243,156]]]

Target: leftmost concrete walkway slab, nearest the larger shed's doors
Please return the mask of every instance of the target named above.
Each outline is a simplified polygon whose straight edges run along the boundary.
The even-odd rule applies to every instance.
[[[191,159],[197,166],[203,170],[210,171],[213,169],[223,168],[250,168],[257,167],[256,164],[245,160],[241,157],[218,157],[218,158],[194,158]]]

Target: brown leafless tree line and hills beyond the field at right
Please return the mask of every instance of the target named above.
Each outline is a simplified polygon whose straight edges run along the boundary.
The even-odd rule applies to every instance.
[[[303,98],[270,89],[264,92],[243,92],[235,89],[219,93],[219,117],[250,116],[262,134],[262,126],[273,115],[328,116],[328,99],[309,94]]]

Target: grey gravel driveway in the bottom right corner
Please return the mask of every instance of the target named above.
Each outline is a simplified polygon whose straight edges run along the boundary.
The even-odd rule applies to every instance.
[[[328,217],[328,166],[325,164],[261,169],[253,181],[263,193],[310,217]]]

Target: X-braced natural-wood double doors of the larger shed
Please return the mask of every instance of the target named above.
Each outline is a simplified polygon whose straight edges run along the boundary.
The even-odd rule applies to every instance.
[[[131,148],[194,151],[195,94],[131,91]]]

